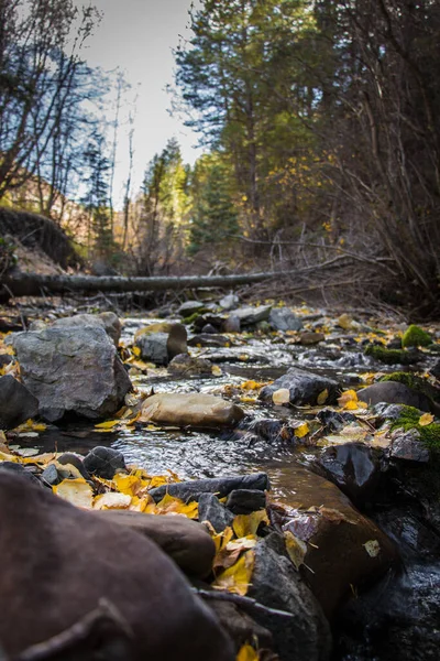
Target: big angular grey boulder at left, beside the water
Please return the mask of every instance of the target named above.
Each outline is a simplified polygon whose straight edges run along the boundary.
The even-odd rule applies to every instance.
[[[132,388],[101,327],[18,333],[12,344],[23,382],[51,422],[69,412],[90,419],[112,415]]]

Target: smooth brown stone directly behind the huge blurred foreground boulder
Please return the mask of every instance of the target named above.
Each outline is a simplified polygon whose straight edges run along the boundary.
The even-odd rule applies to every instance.
[[[197,521],[122,509],[92,510],[92,513],[153,540],[189,576],[205,578],[212,571],[216,545],[205,525]]]

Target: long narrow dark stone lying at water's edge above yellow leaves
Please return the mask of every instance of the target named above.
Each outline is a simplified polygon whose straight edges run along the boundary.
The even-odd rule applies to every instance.
[[[162,500],[165,494],[188,500],[198,500],[200,494],[216,494],[218,498],[224,498],[234,489],[257,489],[266,491],[271,488],[271,483],[266,473],[252,473],[251,475],[240,475],[237,477],[213,477],[206,479],[194,479],[190,481],[174,483],[163,485],[148,491],[150,496],[156,502]]]

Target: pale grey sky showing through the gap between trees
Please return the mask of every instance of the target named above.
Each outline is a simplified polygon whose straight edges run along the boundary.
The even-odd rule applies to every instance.
[[[85,0],[76,3],[88,4]],[[92,0],[92,4],[102,12],[102,20],[82,56],[105,71],[119,67],[131,85],[120,112],[124,126],[118,138],[114,177],[114,203],[120,207],[129,170],[130,111],[134,113],[132,193],[139,191],[148,161],[164,149],[169,138],[177,138],[187,163],[193,164],[201,153],[195,149],[197,136],[184,126],[182,118],[170,117],[172,99],[165,90],[173,83],[172,50],[178,45],[179,35],[190,36],[191,0]],[[112,106],[114,99],[108,105],[109,120],[114,119]]]

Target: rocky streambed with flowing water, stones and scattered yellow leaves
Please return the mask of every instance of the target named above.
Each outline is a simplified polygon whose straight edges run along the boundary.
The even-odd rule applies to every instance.
[[[195,584],[244,599],[204,597],[240,660],[435,659],[438,327],[222,305],[7,338],[3,468],[107,520],[208,521]]]

